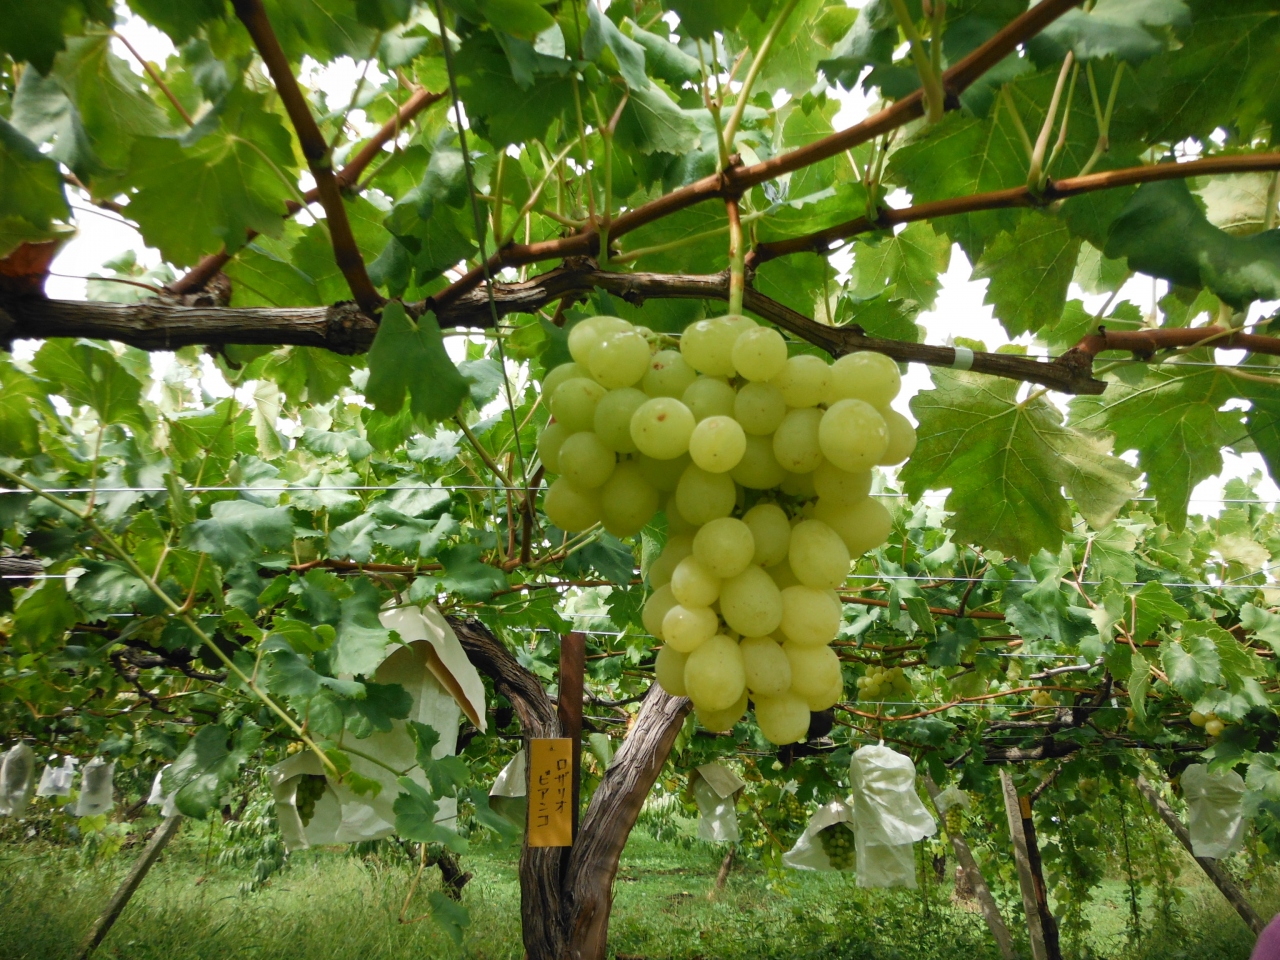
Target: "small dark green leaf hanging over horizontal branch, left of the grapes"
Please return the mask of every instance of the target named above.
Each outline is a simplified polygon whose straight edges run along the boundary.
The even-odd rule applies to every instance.
[[[389,416],[404,404],[406,392],[413,415],[434,421],[453,416],[470,387],[444,351],[435,316],[424,314],[415,323],[403,305],[392,301],[369,348],[365,396]]]

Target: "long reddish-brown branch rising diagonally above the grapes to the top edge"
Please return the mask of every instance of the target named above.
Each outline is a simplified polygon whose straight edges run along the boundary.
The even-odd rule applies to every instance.
[[[959,96],[983,73],[1014,52],[1021,44],[1027,42],[1044,27],[1056,20],[1064,13],[1075,6],[1079,0],[1043,0],[1027,13],[1018,17],[991,40],[974,50],[969,56],[942,74],[942,88],[947,92],[947,108],[959,105]],[[644,204],[635,210],[628,210],[613,220],[609,227],[609,238],[616,239],[645,224],[660,220],[685,207],[700,204],[704,200],[737,197],[744,191],[776,179],[785,173],[791,173],[805,166],[810,166],[820,160],[836,156],[850,150],[859,143],[865,143],[883,133],[902,127],[911,120],[924,115],[922,93],[916,91],[902,97],[891,106],[881,110],[874,116],[869,116],[861,123],[856,123],[847,129],[823,137],[813,143],[792,150],[787,154],[764,160],[751,166],[731,165],[722,173],[704,177],[680,189],[675,189],[657,200]],[[521,266],[540,260],[556,260],[570,256],[595,256],[599,253],[600,234],[594,228],[557,241],[544,241],[541,243],[508,243],[506,247],[489,257],[485,265],[490,275],[497,274],[506,266]],[[475,288],[484,280],[485,269],[475,268],[467,271],[461,279],[434,297],[434,305],[445,306],[461,297],[467,291]]]

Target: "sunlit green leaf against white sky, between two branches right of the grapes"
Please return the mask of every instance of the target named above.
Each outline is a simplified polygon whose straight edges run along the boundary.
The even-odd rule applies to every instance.
[[[1024,212],[1012,233],[1001,233],[974,265],[974,279],[989,279],[983,302],[1010,337],[1057,321],[1075,274],[1080,239],[1060,219]]]

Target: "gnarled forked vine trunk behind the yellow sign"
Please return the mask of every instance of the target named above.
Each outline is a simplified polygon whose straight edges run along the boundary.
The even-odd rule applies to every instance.
[[[476,668],[511,700],[525,746],[561,736],[556,707],[538,678],[477,621],[453,620]],[[626,740],[591,796],[572,847],[520,851],[520,915],[529,960],[603,960],[613,878],[627,836],[689,713],[685,698],[649,687]]]

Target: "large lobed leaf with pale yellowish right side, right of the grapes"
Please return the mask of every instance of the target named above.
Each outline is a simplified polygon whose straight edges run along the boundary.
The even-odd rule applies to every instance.
[[[1019,403],[1014,381],[932,372],[936,388],[911,401],[920,443],[900,479],[916,498],[951,488],[947,525],[959,539],[1019,558],[1056,552],[1071,527],[1064,486],[1094,529],[1134,495],[1138,471],[1108,440],[1065,425],[1050,401]]]

